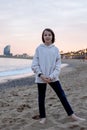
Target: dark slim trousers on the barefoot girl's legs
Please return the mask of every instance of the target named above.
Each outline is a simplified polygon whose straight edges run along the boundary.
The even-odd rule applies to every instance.
[[[38,85],[38,105],[39,105],[39,113],[40,118],[46,117],[45,112],[45,94],[46,94],[46,83],[37,83]],[[61,84],[59,81],[51,82],[49,85],[52,87],[52,89],[56,92],[57,96],[59,97],[63,107],[65,108],[68,116],[72,115],[74,112],[67,101],[66,95],[64,93],[64,90],[61,87]]]

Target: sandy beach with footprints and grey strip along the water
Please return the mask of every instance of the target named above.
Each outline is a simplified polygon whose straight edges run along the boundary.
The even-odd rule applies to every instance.
[[[71,120],[59,98],[47,86],[47,122],[42,125],[38,115],[37,85],[34,76],[8,80],[0,84],[0,130],[87,130],[87,60],[64,59],[69,66],[60,73],[60,82],[76,113],[84,122]]]

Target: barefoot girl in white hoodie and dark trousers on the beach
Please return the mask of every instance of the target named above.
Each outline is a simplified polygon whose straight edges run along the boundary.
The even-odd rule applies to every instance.
[[[61,57],[58,48],[53,44],[55,42],[54,32],[46,28],[42,32],[42,41],[43,43],[36,49],[31,67],[36,74],[40,123],[44,124],[46,121],[45,94],[47,83],[56,92],[68,116],[74,120],[84,121],[85,119],[74,114],[59,82]]]

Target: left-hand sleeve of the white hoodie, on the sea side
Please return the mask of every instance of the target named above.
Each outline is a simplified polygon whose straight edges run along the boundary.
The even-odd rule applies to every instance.
[[[35,74],[37,74],[37,75],[41,73],[40,65],[39,65],[38,49],[36,49],[35,55],[34,55],[34,57],[33,57],[31,69],[32,69],[33,72],[34,72]]]

